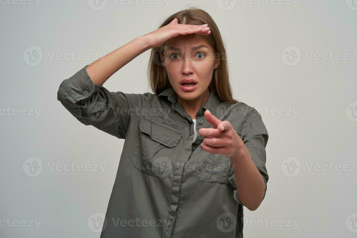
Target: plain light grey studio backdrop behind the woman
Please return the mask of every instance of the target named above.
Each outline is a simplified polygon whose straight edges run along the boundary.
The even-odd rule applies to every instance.
[[[357,1],[237,0],[226,7],[218,0],[130,3],[107,0],[99,10],[93,0],[1,1],[0,236],[100,236],[87,220],[106,212],[124,140],[77,121],[57,101],[59,85],[97,54],[197,6],[221,31],[235,98],[260,110],[269,133],[268,189],[256,211],[245,208],[244,236],[357,237]],[[28,54],[34,50],[40,57],[31,62]],[[292,50],[297,57],[289,63]],[[330,51],[346,53],[345,59],[318,59]],[[52,58],[71,52],[89,58]],[[150,91],[149,53],[104,86]],[[34,159],[42,170],[31,177],[26,166]],[[72,162],[92,169],[51,167]],[[106,167],[96,171],[95,164]],[[339,166],[345,171],[336,171]]]

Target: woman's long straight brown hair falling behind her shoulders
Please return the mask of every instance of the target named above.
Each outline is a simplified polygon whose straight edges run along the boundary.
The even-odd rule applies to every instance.
[[[229,81],[226,49],[215,21],[213,21],[212,17],[206,11],[197,7],[190,7],[169,16],[166,20],[164,20],[159,28],[168,25],[175,18],[178,19],[178,24],[208,24],[211,34],[202,36],[208,44],[213,47],[215,59],[217,59],[217,57],[220,58],[220,64],[213,70],[212,81],[209,88],[211,91],[216,93],[223,102],[238,102],[232,96],[232,86]],[[150,88],[156,95],[159,95],[165,88],[170,86],[166,69],[160,63],[158,64],[158,62],[161,62],[161,48],[162,46],[151,49],[147,72]]]

